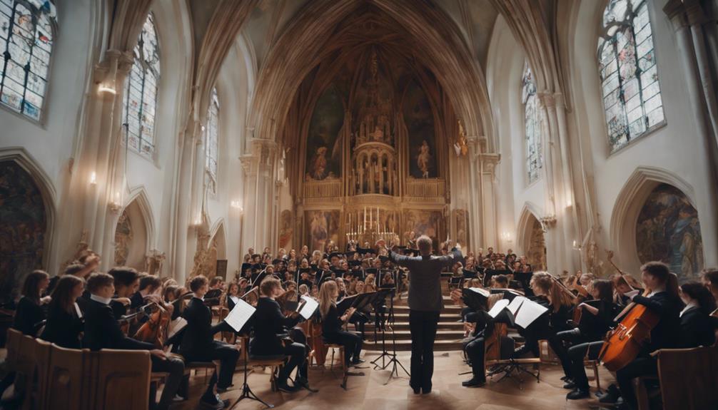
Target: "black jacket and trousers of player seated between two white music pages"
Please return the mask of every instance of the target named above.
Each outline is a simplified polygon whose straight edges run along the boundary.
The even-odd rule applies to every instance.
[[[249,342],[249,354],[251,356],[289,356],[286,366],[281,368],[279,383],[286,383],[289,374],[294,368],[304,366],[307,360],[307,345],[297,343],[283,343],[283,336],[289,336],[288,328],[294,327],[301,316],[287,318],[281,313],[281,308],[276,300],[270,297],[260,297],[257,300],[256,312],[254,313],[254,337]]]

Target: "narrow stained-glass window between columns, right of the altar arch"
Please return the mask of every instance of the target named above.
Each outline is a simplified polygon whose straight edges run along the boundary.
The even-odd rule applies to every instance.
[[[521,77],[521,103],[523,103],[523,123],[526,132],[526,172],[528,183],[536,181],[541,167],[544,166],[544,154],[541,151],[541,120],[544,118],[536,97],[536,83],[533,82],[531,67],[526,64]]]

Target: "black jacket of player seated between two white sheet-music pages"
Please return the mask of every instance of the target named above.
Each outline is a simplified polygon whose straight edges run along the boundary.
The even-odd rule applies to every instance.
[[[281,313],[279,303],[269,297],[257,300],[254,313],[254,337],[249,343],[249,353],[253,356],[273,356],[284,352],[284,345],[277,335],[286,333],[299,323],[297,318],[287,318]]]

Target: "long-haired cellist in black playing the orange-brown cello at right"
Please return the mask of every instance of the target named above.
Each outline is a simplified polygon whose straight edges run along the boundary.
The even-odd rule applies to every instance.
[[[658,363],[650,353],[662,348],[675,347],[680,328],[679,313],[682,303],[676,283],[669,280],[673,274],[668,270],[668,265],[663,262],[648,262],[640,270],[643,283],[651,292],[643,296],[638,294],[638,290],[633,290],[625,295],[633,302],[644,305],[660,318],[658,324],[651,330],[651,340],[643,347],[638,357],[616,372],[619,394],[623,397],[623,406],[626,409],[638,408],[633,392],[633,379],[658,374]],[[614,397],[611,395],[602,400],[607,402]],[[617,400],[617,397],[615,399]]]

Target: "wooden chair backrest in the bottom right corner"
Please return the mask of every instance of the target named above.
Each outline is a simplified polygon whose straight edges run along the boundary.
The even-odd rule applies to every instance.
[[[661,349],[663,409],[718,409],[718,348]]]

